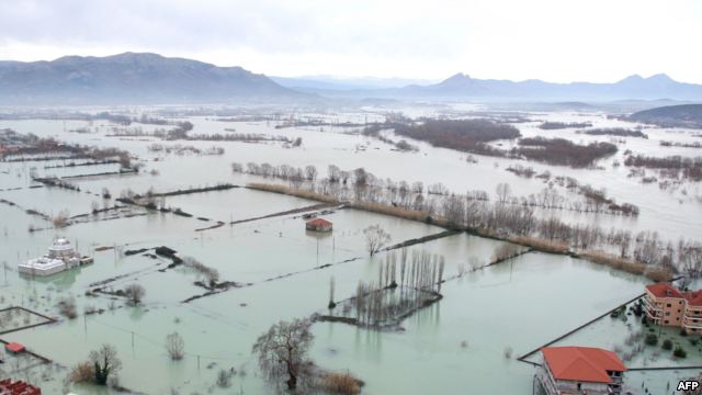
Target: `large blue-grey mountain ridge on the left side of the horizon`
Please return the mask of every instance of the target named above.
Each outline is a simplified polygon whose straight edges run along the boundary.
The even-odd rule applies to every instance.
[[[241,67],[125,53],[0,61],[0,103],[203,103],[308,97]]]

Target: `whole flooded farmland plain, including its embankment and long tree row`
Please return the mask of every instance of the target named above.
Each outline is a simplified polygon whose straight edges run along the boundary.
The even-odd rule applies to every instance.
[[[309,357],[325,372],[362,380],[367,394],[526,395],[535,368],[518,357],[643,294],[654,280],[700,269],[680,253],[702,240],[694,170],[626,165],[635,155],[702,156],[691,146],[695,131],[602,113],[404,109],[419,123],[488,116],[522,139],[616,148],[574,168],[517,156],[512,149],[524,146],[517,138],[485,143],[502,154],[434,147],[396,134],[397,113],[380,108],[256,116],[111,111],[145,123],[0,121],[0,129],[128,153],[103,161],[97,151],[59,158],[50,150],[0,162],[0,309],[22,306],[58,320],[7,334],[0,326],[2,341],[50,361],[0,370],[46,393],[116,391],[65,381],[103,343],[117,351],[118,386],[127,392],[274,393],[251,352],[272,325],[353,317],[351,307],[340,309],[358,306],[360,282],[398,295],[423,281],[442,297],[390,330],[315,321]],[[370,126],[380,132],[364,133]],[[313,217],[333,229],[307,230]],[[375,226],[388,237],[371,251]],[[19,273],[18,263],[42,256],[57,237],[93,263],[50,276]],[[144,291],[137,303],[127,292],[134,284]],[[8,328],[25,319],[27,327],[38,323],[10,317]],[[633,329],[609,319],[558,345],[613,348]],[[179,360],[167,350],[173,332],[184,343]],[[634,362],[649,365],[652,353]],[[675,363],[698,360],[691,349]],[[634,393],[642,382],[663,391],[654,376],[661,373],[631,374],[625,384]]]

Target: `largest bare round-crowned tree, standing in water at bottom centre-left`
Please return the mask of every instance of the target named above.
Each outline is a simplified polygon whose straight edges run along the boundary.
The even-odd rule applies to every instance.
[[[288,390],[304,383],[313,364],[307,359],[314,339],[310,326],[308,319],[280,321],[256,340],[252,352],[258,354],[259,368],[269,381],[278,383],[287,377]]]

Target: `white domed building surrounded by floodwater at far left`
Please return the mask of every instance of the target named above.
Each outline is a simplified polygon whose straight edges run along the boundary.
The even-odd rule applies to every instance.
[[[48,248],[48,253],[20,263],[18,269],[20,273],[44,276],[90,262],[92,262],[92,258],[81,258],[70,245],[70,241],[65,238],[57,238],[52,247]]]

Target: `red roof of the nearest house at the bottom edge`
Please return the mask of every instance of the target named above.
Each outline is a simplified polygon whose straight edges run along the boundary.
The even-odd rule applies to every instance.
[[[608,371],[626,371],[614,352],[598,348],[545,347],[541,352],[556,380],[611,383]]]

